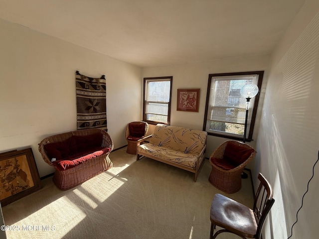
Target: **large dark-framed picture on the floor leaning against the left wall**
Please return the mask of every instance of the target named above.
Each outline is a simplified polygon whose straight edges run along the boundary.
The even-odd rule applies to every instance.
[[[0,153],[0,202],[8,205],[41,188],[31,148]]]

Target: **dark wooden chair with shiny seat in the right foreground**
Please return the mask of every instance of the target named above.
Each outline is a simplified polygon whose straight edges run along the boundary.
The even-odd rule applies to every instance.
[[[214,196],[210,208],[210,239],[215,239],[221,233],[232,233],[243,239],[262,239],[262,228],[275,200],[268,180],[261,173],[258,179],[260,184],[253,209],[221,194]],[[214,234],[216,226],[223,229]]]

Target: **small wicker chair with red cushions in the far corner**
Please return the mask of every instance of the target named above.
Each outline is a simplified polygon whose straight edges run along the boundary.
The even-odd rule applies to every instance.
[[[134,121],[128,124],[125,132],[125,138],[128,140],[127,153],[137,153],[137,148],[145,140],[148,130],[149,124],[144,121]]]

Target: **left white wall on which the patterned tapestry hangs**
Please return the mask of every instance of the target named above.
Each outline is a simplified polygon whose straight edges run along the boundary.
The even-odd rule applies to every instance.
[[[40,177],[53,169],[38,143],[76,130],[76,70],[106,76],[108,132],[126,145],[127,123],[142,114],[141,68],[0,20],[0,152],[31,147]]]

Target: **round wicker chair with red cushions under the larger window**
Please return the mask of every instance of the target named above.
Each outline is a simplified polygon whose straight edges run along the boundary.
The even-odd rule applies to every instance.
[[[241,173],[256,155],[248,144],[227,140],[210,155],[209,182],[225,193],[235,193],[241,188]]]

